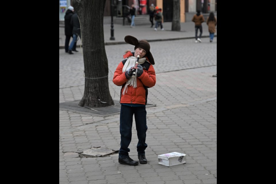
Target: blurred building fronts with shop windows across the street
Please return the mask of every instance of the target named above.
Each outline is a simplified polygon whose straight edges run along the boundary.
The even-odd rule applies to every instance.
[[[180,22],[190,22],[197,9],[202,11],[205,19],[211,11],[217,17],[216,3],[217,0],[180,0]],[[135,24],[149,24],[148,9],[151,4],[162,8],[164,22],[173,20],[173,0],[106,0],[104,24],[110,24],[111,7],[114,8],[114,24],[127,24],[126,16],[132,4],[136,8]],[[59,0],[60,22],[64,21],[65,12],[70,5],[71,0]]]

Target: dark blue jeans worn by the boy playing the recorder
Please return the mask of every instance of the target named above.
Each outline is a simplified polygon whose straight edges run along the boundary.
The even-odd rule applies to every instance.
[[[135,124],[137,130],[138,144],[137,152],[138,155],[145,155],[145,149],[147,148],[146,141],[146,131],[147,131],[147,111],[146,107],[131,107],[121,105],[120,112],[120,134],[121,134],[121,147],[119,150],[119,158],[129,157],[130,149],[129,144],[131,142],[132,136],[132,122],[133,114],[135,117]]]

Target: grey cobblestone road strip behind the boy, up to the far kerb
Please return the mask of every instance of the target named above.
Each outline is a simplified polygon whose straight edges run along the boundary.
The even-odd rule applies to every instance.
[[[202,38],[202,43],[194,43],[194,39],[183,39],[150,42],[150,45],[156,61],[156,73],[216,65],[216,37],[213,43],[209,42],[209,38]],[[108,77],[112,81],[116,67],[123,60],[124,51],[134,51],[134,47],[129,44],[106,45],[105,49],[110,69]],[[78,50],[79,52],[69,55],[60,49],[60,88],[84,85],[82,49]]]

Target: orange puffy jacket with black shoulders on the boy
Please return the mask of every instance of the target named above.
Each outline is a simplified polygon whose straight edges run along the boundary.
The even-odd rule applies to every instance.
[[[137,77],[137,87],[133,88],[133,86],[127,86],[127,92],[124,95],[122,95],[124,86],[128,81],[125,72],[122,72],[122,69],[126,61],[127,60],[123,60],[122,62],[120,62],[113,76],[113,83],[117,86],[122,86],[120,103],[147,105],[147,88],[153,87],[156,83],[155,70],[152,64],[150,64],[147,61],[141,64],[144,72],[141,76]]]

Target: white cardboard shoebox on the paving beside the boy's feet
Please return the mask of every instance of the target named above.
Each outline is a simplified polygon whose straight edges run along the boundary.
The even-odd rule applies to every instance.
[[[186,163],[186,154],[172,152],[163,155],[158,155],[158,164],[164,166],[175,166]]]

